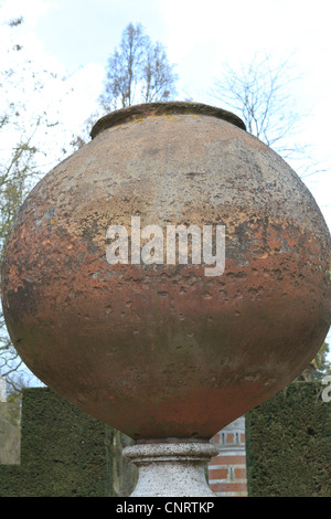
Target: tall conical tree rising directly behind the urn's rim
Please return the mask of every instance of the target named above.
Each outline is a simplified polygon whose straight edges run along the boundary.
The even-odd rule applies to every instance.
[[[100,104],[105,110],[136,103],[168,100],[175,95],[177,74],[161,43],[152,43],[141,24],[129,23],[119,50],[108,59]]]

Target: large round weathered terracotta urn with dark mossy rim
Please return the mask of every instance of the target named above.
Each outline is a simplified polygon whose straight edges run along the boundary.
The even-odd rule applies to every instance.
[[[330,326],[330,233],[235,115],[131,106],[32,190],[2,303],[38,378],[135,439],[211,438],[309,364]]]

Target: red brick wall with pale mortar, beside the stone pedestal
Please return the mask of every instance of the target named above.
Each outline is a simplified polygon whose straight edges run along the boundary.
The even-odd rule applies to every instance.
[[[245,417],[215,434],[213,443],[220,453],[209,464],[211,489],[215,496],[247,497]]]

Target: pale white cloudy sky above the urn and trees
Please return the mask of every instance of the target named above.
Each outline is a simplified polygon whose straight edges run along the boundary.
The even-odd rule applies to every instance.
[[[279,61],[293,55],[302,74],[297,102],[310,114],[302,138],[327,165],[305,181],[331,229],[330,0],[0,0],[0,23],[24,17],[17,31],[35,60],[71,74],[75,96],[63,104],[62,117],[72,133],[93,112],[107,57],[129,22],[140,22],[167,47],[180,76],[179,98],[211,102],[225,62],[235,67],[256,53]]]

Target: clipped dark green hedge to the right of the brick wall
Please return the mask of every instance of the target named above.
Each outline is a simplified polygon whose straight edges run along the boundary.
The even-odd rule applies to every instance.
[[[246,414],[249,497],[331,497],[331,402],[293,382]]]

